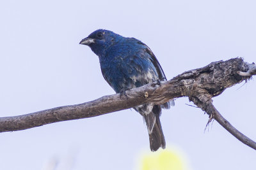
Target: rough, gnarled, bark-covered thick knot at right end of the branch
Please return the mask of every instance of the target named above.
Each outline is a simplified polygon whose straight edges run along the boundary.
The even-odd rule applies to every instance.
[[[212,62],[200,69],[186,71],[176,78],[182,83],[182,94],[189,97],[199,108],[214,118],[212,97],[220,95],[228,87],[252,77],[256,72],[255,64],[244,62],[241,58]],[[208,124],[209,124],[208,122]]]

